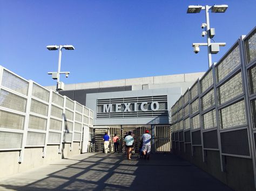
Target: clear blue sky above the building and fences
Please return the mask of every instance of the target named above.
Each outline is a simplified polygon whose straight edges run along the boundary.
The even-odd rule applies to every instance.
[[[25,79],[51,86],[58,51],[47,45],[71,44],[62,54],[64,83],[203,72],[206,47],[193,53],[205,13],[187,14],[188,5],[228,4],[226,13],[210,13],[216,42],[226,42],[218,61],[241,34],[255,26],[255,0],[245,1],[0,1],[0,65]]]

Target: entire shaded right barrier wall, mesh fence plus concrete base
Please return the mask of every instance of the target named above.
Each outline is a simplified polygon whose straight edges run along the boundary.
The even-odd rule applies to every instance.
[[[256,28],[173,105],[173,153],[235,190],[255,190]]]

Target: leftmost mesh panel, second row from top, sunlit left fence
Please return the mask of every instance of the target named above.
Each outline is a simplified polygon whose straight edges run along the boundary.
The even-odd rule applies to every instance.
[[[0,106],[13,109],[16,111],[26,111],[26,98],[12,94],[9,91],[1,89],[0,91]]]

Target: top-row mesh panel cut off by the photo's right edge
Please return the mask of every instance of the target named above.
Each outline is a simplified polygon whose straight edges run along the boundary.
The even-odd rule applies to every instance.
[[[256,58],[256,30],[245,39],[246,63]]]

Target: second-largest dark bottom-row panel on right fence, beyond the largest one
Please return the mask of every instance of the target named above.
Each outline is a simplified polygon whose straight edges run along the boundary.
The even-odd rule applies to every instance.
[[[204,148],[219,148],[217,130],[203,132]]]

